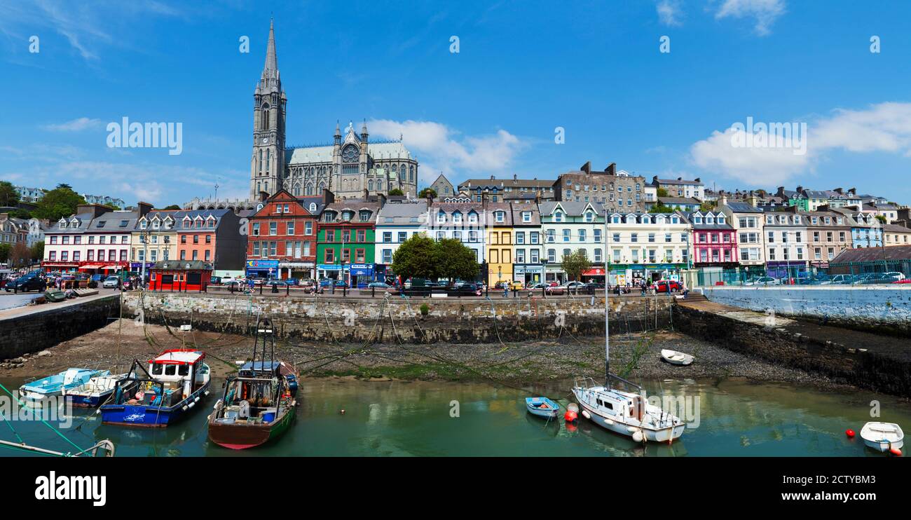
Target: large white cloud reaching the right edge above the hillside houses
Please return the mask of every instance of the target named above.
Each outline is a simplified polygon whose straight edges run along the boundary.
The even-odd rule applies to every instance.
[[[796,174],[812,172],[831,150],[885,152],[911,157],[911,103],[881,103],[862,110],[835,109],[831,117],[807,122],[805,153],[794,148],[738,147],[746,133],[729,127],[714,131],[690,148],[699,166],[752,185],[781,184]],[[768,132],[752,138],[770,138]]]

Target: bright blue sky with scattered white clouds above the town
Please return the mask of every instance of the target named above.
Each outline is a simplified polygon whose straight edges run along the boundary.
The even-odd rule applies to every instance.
[[[0,178],[128,204],[180,204],[216,183],[246,197],[269,3],[130,4],[0,0]],[[272,4],[288,144],[366,119],[373,138],[404,135],[421,186],[441,170],[556,178],[590,160],[719,189],[911,202],[911,4]],[[181,123],[182,153],[108,148],[122,117]],[[733,147],[747,117],[806,123],[805,153]]]

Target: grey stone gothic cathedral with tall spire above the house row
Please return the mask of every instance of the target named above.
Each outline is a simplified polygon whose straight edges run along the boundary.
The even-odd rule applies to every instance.
[[[335,199],[363,198],[364,190],[388,195],[401,189],[405,195],[416,196],[417,159],[401,137],[371,141],[366,122],[360,133],[349,123],[344,134],[336,123],[332,145],[286,148],[287,107],[271,24],[266,65],[253,92],[251,201],[259,199],[261,192],[272,195],[279,189],[295,197],[319,196],[323,189],[332,191]]]

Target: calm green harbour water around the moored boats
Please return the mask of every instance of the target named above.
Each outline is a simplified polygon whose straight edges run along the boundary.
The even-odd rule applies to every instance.
[[[2,382],[14,392],[22,383]],[[569,385],[555,383],[536,392],[565,397]],[[672,445],[643,448],[582,418],[576,425],[567,425],[562,419],[548,422],[530,416],[524,397],[533,393],[527,391],[469,382],[327,378],[302,381],[292,430],[258,449],[236,452],[208,441],[206,415],[220,394],[220,381],[213,382],[213,392],[199,412],[167,429],[105,426],[97,414],[77,409],[63,433],[81,447],[109,438],[118,456],[883,456],[865,449],[859,437],[847,439],[844,431],[859,432],[867,421],[911,429],[911,404],[863,391],[830,393],[744,380],[666,380],[644,385],[650,394],[698,397],[698,426],[688,428]],[[870,417],[872,401],[879,403],[879,419]],[[568,402],[560,403],[565,408]],[[72,450],[42,423],[13,421],[10,425],[28,444]],[[2,426],[0,439],[15,441],[15,434]],[[0,456],[10,455],[23,453],[0,449]]]

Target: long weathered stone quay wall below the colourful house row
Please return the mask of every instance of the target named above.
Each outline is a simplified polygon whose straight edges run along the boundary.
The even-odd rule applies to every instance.
[[[611,298],[611,333],[667,328],[673,299]],[[124,316],[248,334],[269,316],[281,338],[314,342],[511,342],[604,334],[604,297],[388,298],[138,292]],[[422,307],[425,310],[422,311]]]

